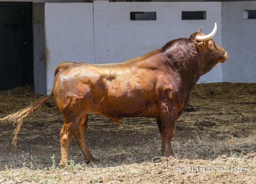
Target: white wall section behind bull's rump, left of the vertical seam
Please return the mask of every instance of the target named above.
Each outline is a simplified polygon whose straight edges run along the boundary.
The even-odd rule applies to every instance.
[[[54,71],[63,61],[94,63],[92,3],[45,4],[47,94]]]

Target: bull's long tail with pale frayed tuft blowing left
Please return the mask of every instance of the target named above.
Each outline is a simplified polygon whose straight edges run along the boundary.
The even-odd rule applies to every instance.
[[[49,96],[44,97],[43,99],[37,100],[36,102],[30,104],[23,110],[19,110],[17,113],[13,113],[8,115],[7,117],[0,118],[0,121],[12,121],[14,124],[17,124],[14,130],[14,138],[12,140],[12,144],[17,147],[18,133],[25,121],[25,119],[32,114],[34,111],[40,109],[40,107],[45,104],[50,97],[52,97],[53,92],[50,93]]]

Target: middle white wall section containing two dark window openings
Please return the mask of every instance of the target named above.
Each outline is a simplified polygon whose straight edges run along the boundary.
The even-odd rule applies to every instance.
[[[130,21],[130,11],[156,11],[156,21]],[[207,11],[206,20],[181,20],[181,11]],[[171,39],[188,37],[202,25],[209,33],[218,25],[215,41],[221,45],[221,2],[94,1],[94,62],[119,63],[162,47]],[[218,64],[199,82],[221,82]]]

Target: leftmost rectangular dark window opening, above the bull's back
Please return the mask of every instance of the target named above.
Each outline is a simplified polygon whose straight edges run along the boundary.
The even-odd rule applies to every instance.
[[[131,21],[155,21],[156,12],[155,11],[140,11],[140,12],[130,12]]]

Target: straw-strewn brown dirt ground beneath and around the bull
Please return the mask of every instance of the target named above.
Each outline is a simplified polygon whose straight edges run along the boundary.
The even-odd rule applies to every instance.
[[[42,98],[32,88],[0,91],[0,117]],[[63,120],[52,98],[26,120],[11,145],[12,123],[0,123],[0,183],[255,183],[256,84],[196,85],[176,122],[173,161],[162,155],[155,119],[124,118],[122,128],[91,114],[86,131],[94,163],[72,138],[70,165],[58,167]]]

